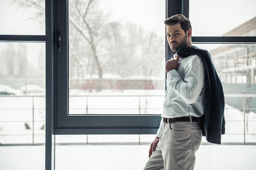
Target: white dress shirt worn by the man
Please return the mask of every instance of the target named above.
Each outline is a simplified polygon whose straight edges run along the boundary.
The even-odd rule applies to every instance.
[[[180,57],[177,70],[167,74],[166,87],[162,118],[204,114],[204,63],[198,55]],[[162,133],[163,124],[161,119],[157,137]]]

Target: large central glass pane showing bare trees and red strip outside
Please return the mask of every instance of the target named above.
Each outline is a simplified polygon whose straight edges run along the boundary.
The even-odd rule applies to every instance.
[[[161,114],[164,19],[165,0],[70,0],[69,114]]]

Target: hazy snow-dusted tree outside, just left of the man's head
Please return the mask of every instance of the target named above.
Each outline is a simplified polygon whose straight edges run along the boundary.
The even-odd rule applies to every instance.
[[[103,65],[106,71],[121,77],[158,75],[165,56],[163,39],[137,24],[112,24],[111,41],[101,41],[101,46],[111,49],[105,54],[110,58]]]

